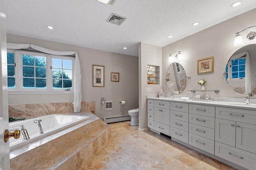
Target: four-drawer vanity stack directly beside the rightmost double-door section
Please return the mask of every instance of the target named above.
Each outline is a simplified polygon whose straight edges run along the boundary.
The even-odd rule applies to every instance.
[[[189,104],[188,144],[214,154],[215,106]]]

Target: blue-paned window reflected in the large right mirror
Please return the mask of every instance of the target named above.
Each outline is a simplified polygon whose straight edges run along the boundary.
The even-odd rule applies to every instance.
[[[244,79],[245,77],[245,58],[229,61],[226,66],[226,79]],[[229,66],[229,67],[228,67]]]

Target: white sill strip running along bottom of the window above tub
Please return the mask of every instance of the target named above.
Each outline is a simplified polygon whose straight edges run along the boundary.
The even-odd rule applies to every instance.
[[[37,91],[32,91],[32,90],[22,90],[22,91],[8,91],[8,94],[74,94],[74,90],[37,90]]]

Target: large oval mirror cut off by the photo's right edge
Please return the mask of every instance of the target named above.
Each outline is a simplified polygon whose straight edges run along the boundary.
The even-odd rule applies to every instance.
[[[256,94],[256,44],[238,49],[226,65],[226,80],[238,94]]]

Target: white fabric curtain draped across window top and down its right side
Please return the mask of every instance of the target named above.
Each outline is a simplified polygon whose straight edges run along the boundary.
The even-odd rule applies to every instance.
[[[79,57],[76,51],[53,51],[43,47],[39,47],[31,44],[16,44],[7,43],[7,49],[28,49],[32,48],[36,51],[41,51],[43,53],[52,55],[75,55],[75,68],[74,68],[74,113],[80,112],[81,101],[82,101],[82,86],[81,86],[81,67],[79,62]]]

